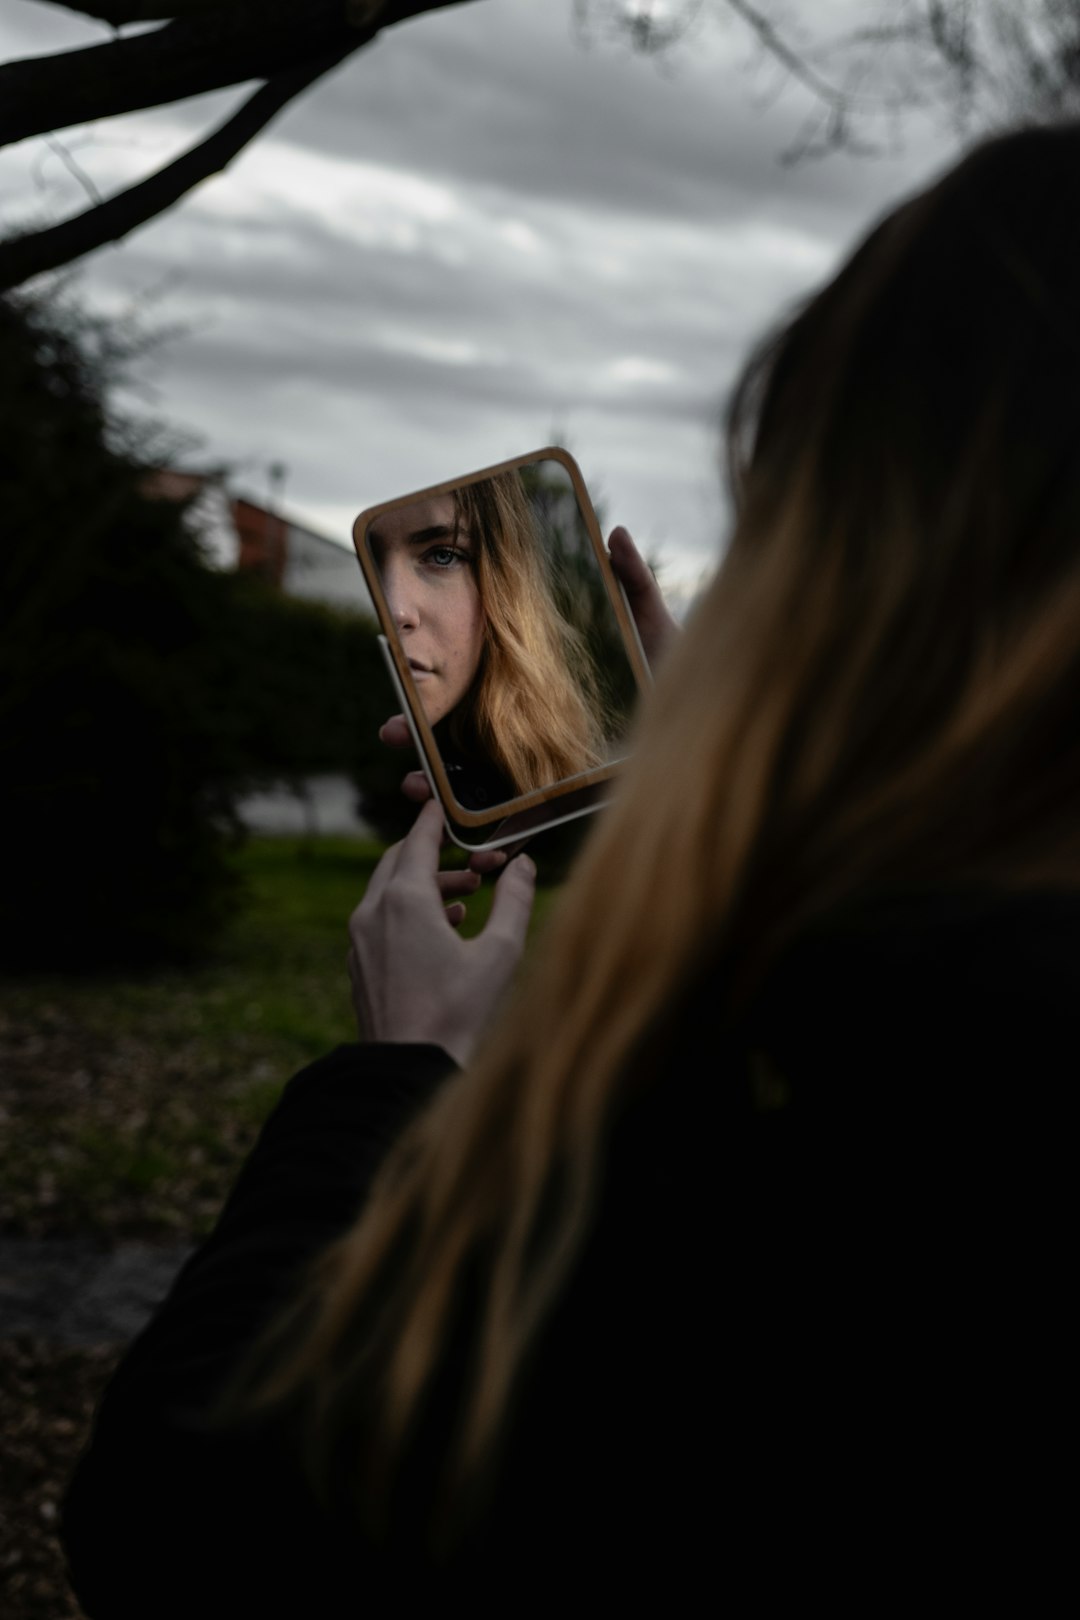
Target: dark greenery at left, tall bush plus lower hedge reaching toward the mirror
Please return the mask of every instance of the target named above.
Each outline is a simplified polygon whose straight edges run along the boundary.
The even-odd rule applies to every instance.
[[[206,951],[236,795],[374,753],[390,703],[372,625],[212,572],[146,494],[92,339],[0,300],[6,969]]]

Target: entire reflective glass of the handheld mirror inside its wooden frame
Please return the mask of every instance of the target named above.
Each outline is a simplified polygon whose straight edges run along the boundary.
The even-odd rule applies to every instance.
[[[379,509],[366,544],[463,808],[625,752],[638,680],[562,462]]]

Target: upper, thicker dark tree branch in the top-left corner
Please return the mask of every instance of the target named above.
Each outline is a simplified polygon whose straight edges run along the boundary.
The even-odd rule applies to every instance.
[[[379,29],[470,0],[227,0],[128,39],[0,66],[0,146],[270,79]],[[172,10],[172,6],[170,6]]]

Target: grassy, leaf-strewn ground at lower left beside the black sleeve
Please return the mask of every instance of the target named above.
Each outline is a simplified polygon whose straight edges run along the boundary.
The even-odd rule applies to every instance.
[[[94,1406],[282,1085],[351,1038],[343,925],[372,859],[253,841],[212,962],[0,985],[3,1620],[79,1617],[57,1523]]]

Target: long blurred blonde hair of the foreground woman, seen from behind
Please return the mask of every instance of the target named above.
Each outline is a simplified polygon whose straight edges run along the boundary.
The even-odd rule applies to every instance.
[[[988,144],[746,371],[732,544],[620,799],[513,1008],[261,1364],[259,1401],[300,1414],[314,1479],[369,1520],[461,1311],[445,1498],[491,1477],[612,1118],[662,1079],[704,964],[737,1030],[837,906],[1080,881],[1077,204],[1077,130]]]

